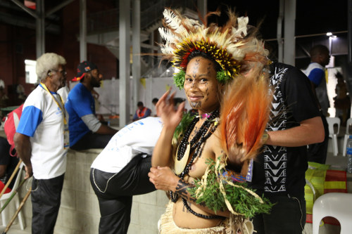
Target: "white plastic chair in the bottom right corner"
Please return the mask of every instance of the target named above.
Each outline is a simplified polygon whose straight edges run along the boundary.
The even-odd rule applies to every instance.
[[[339,221],[341,234],[351,234],[351,201],[351,193],[326,193],[318,197],[313,205],[313,234],[319,233],[320,221],[326,216],[332,216]]]

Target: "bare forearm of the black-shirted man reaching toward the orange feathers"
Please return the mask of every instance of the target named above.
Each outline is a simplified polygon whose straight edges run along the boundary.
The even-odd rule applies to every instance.
[[[300,126],[281,131],[268,131],[265,145],[298,147],[324,141],[324,126],[320,116],[303,120]]]

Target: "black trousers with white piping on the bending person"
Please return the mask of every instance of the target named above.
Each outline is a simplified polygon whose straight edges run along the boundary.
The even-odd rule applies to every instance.
[[[100,234],[125,234],[130,225],[132,196],[150,193],[156,188],[149,181],[151,156],[134,157],[120,172],[91,169],[90,181],[98,197]]]

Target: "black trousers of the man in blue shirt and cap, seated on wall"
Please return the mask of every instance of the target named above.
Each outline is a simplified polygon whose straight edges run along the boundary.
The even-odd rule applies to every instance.
[[[70,145],[70,148],[73,150],[103,149],[112,137],[113,135],[93,134],[89,131],[75,145]]]

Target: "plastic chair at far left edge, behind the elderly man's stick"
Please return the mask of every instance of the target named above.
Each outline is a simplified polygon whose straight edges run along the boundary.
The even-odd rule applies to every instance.
[[[0,197],[0,204],[1,204],[1,207],[4,206],[6,200],[8,200],[8,197],[11,197],[11,195],[13,193],[15,193],[15,190],[18,188],[18,184],[20,183],[20,178],[21,178],[21,175],[22,175],[22,170],[23,168],[25,167],[25,164],[22,162],[20,164],[20,167],[18,168],[18,173],[17,173],[17,176],[15,177],[15,183],[13,184],[13,188],[11,190],[10,193],[4,193],[1,197]],[[18,209],[18,207],[20,207],[20,198],[18,197],[18,193],[16,193],[15,197],[13,197],[13,199],[11,200],[11,202],[13,202],[13,200],[15,201],[15,207],[16,209]],[[11,203],[10,202],[10,203]],[[10,204],[8,204],[8,206],[1,212],[1,219],[2,219],[2,226],[6,226],[7,223],[8,223],[8,207],[9,207]],[[13,212],[13,214],[15,214],[15,212]],[[12,216],[12,214],[11,214]],[[21,230],[25,230],[25,219],[23,219],[23,214],[22,212],[19,212],[18,213],[18,221],[20,223],[20,228]]]

